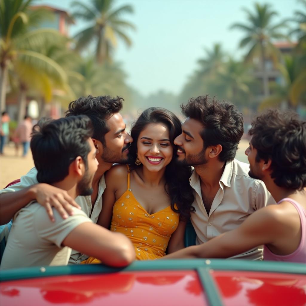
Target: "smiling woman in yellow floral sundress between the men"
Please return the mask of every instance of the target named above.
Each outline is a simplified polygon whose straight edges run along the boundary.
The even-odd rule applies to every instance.
[[[129,166],[106,174],[98,224],[124,233],[137,259],[156,259],[184,247],[186,220],[193,208],[191,168],[177,163],[174,138],[181,122],[169,110],[151,107],[131,130]],[[86,263],[99,263],[89,258]]]

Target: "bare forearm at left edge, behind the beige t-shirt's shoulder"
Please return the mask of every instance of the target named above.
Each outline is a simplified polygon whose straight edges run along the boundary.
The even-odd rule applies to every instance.
[[[35,200],[34,187],[0,194],[0,224],[8,223],[22,207]]]

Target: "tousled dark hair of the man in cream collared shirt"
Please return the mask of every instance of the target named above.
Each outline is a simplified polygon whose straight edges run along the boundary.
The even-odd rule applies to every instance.
[[[208,95],[191,98],[181,105],[182,114],[203,125],[200,133],[204,149],[222,145],[218,155],[221,162],[233,160],[243,135],[243,117],[237,107],[226,101],[211,99]]]

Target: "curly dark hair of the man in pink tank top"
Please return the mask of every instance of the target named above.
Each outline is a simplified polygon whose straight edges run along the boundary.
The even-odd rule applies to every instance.
[[[306,187],[306,121],[292,111],[267,110],[252,122],[256,162],[271,159],[271,177],[279,187]]]

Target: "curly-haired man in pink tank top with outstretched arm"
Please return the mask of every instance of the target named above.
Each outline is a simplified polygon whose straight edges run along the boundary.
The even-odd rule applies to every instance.
[[[167,258],[225,258],[264,244],[264,260],[306,263],[306,121],[292,112],[268,110],[252,122],[249,134],[249,175],[265,183],[277,204]]]

